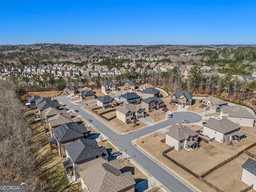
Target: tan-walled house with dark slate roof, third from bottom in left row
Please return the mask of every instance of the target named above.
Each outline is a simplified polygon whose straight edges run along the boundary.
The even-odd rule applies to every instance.
[[[56,140],[58,153],[62,157],[64,154],[66,154],[65,146],[78,139],[87,137],[87,129],[85,124],[78,124],[77,122],[64,123],[52,130],[52,135],[52,137],[54,137]],[[54,139],[52,138],[52,140]]]

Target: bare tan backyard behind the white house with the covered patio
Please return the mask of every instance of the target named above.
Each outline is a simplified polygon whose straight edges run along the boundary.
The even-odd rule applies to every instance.
[[[241,129],[242,130],[242,129]],[[244,148],[250,146],[251,144],[254,144],[256,142],[256,136],[252,136],[249,134],[246,134],[245,140],[241,140],[240,142],[233,141],[234,147],[232,145],[228,146],[227,143],[220,143],[216,140],[213,141],[215,144],[218,144],[224,148],[227,148],[229,150],[234,150],[236,152],[242,151]]]

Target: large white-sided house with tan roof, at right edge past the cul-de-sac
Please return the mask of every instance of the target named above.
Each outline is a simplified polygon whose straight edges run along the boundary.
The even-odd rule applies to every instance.
[[[240,105],[223,106],[221,108],[220,118],[228,118],[232,122],[246,127],[253,127],[255,123],[254,116]]]

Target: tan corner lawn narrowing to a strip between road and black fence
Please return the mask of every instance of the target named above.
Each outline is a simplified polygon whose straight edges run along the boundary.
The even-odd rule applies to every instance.
[[[165,134],[156,132],[156,135],[157,136],[155,136],[154,134],[151,134],[146,137],[140,138],[136,141],[136,144],[144,148],[144,150],[146,150],[148,153],[154,155],[158,161],[163,162],[166,166],[174,170],[177,174],[179,174],[180,176],[188,180],[190,183],[192,183],[194,186],[196,186],[200,190],[207,191],[207,192],[216,192],[214,189],[210,188],[208,185],[199,181],[194,176],[192,176],[191,174],[188,174],[188,172],[176,166],[174,163],[170,162],[167,158],[162,156],[162,152],[168,149],[168,146],[166,144],[163,144],[162,142],[160,142],[160,140],[165,138]],[[142,141],[144,142],[142,143]],[[154,143],[154,145],[152,145],[152,143]]]

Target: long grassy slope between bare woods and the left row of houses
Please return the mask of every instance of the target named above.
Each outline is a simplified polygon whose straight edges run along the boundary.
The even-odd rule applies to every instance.
[[[33,111],[28,114],[34,113]],[[52,154],[48,139],[44,135],[44,128],[40,122],[34,122],[33,116],[28,118],[32,129],[34,142],[34,155],[36,167],[40,175],[56,192],[80,191],[80,183],[71,184],[65,178],[65,171],[62,162],[66,158],[61,158],[59,154]]]

